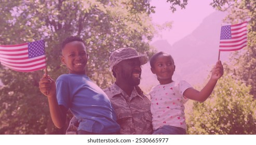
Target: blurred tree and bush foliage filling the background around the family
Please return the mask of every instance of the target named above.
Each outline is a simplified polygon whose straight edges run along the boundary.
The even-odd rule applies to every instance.
[[[187,5],[186,0],[166,3],[173,12]],[[256,2],[222,0],[211,5],[230,11],[226,22],[250,18],[248,47],[233,53],[211,97],[203,104],[193,102],[186,114],[188,134],[255,134]],[[150,0],[0,0],[0,44],[45,39],[48,74],[56,79],[67,72],[60,63],[60,42],[79,36],[88,48],[87,75],[106,88],[114,81],[108,64],[112,51],[133,47],[149,57],[154,53],[149,45],[159,28],[150,18],[154,8]],[[43,73],[16,72],[0,65],[4,84],[0,88],[0,134],[65,133],[65,127],[57,129],[52,124],[47,98],[39,92]]]

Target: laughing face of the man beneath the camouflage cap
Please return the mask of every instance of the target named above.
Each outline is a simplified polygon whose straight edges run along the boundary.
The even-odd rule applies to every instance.
[[[123,60],[117,64],[120,69],[118,79],[135,86],[140,84],[141,65],[139,58]]]

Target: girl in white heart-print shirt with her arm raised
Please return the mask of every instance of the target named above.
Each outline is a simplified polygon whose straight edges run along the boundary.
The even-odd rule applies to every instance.
[[[172,80],[175,65],[170,54],[154,54],[150,65],[160,83],[150,91],[153,134],[186,134],[184,103],[188,99],[204,102],[210,96],[218,79],[223,75],[221,61],[216,63],[210,80],[201,91],[195,90],[186,81]]]

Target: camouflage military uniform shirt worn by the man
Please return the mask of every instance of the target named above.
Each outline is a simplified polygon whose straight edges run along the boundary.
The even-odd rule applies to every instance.
[[[151,102],[145,95],[134,88],[129,97],[115,83],[110,88],[104,89],[104,92],[109,96],[116,112],[117,123],[120,125],[120,134],[152,134]],[[66,134],[77,134],[77,126],[77,120],[72,118]]]

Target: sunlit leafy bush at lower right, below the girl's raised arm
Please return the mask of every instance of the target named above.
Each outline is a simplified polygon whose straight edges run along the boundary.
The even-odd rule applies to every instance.
[[[186,114],[188,134],[256,134],[256,101],[250,86],[224,75],[210,98]]]

